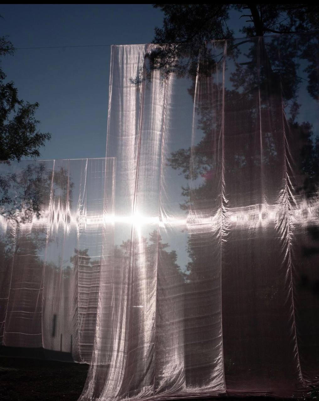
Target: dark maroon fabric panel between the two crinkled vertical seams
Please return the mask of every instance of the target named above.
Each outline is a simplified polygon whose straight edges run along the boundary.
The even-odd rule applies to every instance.
[[[291,232],[277,42],[237,42],[240,54],[228,63],[236,91],[225,93],[226,385],[233,393],[292,395],[300,381],[287,282]]]

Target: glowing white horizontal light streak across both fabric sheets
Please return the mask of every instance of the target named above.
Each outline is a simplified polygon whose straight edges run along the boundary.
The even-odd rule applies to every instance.
[[[240,208],[228,208],[225,211],[225,219],[229,224],[235,225],[254,225],[256,223],[267,223],[280,221],[285,215],[289,214],[293,222],[302,223],[303,221],[318,220],[319,201],[308,205],[306,202],[292,210],[287,211],[286,205],[252,205]],[[204,230],[207,226],[218,226],[221,217],[221,209],[217,210],[215,215],[209,215],[209,211],[202,215],[190,213],[188,217],[168,217],[168,216],[145,216],[142,213],[132,215],[115,214],[96,214],[72,212],[62,208],[47,210],[37,217],[33,215],[31,221],[20,223],[20,227],[31,230],[32,227],[42,227],[43,229],[56,230],[60,227],[70,228],[78,227],[98,227],[100,225],[125,224],[141,228],[143,226],[159,227],[184,227],[197,228]],[[226,223],[224,220],[224,223]],[[0,215],[0,229],[2,232],[8,229],[9,221],[3,215]],[[11,227],[14,229],[16,223],[11,221]]]

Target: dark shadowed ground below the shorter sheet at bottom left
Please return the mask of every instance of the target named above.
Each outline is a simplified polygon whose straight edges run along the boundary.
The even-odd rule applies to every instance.
[[[76,401],[88,365],[0,357],[0,400]]]

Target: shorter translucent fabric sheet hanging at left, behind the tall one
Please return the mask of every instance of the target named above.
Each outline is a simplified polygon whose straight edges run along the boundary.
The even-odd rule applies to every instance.
[[[2,346],[90,363],[100,271],[113,249],[114,166],[112,158],[1,163]]]

